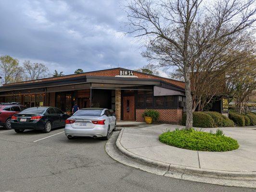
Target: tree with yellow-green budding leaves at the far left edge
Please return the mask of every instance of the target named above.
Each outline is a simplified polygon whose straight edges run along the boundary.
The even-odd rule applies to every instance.
[[[19,61],[9,55],[0,57],[0,71],[5,84],[23,81],[24,70]]]

